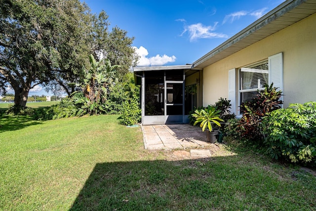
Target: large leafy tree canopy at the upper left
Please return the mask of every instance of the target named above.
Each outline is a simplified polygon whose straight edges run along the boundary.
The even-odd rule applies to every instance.
[[[109,29],[105,11],[91,13],[80,0],[2,0],[0,8],[0,93],[10,84],[14,102],[26,105],[29,90],[42,84],[46,90],[75,91],[88,55],[106,55],[120,65],[120,78],[138,56],[134,38],[118,28]],[[98,60],[98,59],[97,59]],[[56,89],[57,87],[57,89]]]

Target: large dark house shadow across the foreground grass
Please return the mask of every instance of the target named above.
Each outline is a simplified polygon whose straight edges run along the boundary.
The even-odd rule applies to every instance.
[[[277,176],[257,166],[241,155],[98,163],[70,211],[261,210],[270,204],[299,210],[313,204],[313,197],[297,205],[290,194],[279,199],[278,191],[290,193],[292,184],[275,182]]]

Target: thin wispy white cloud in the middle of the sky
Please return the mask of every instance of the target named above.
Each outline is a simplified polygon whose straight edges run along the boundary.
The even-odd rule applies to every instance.
[[[218,22],[215,22],[213,26],[204,26],[201,23],[188,26],[185,25],[181,36],[186,32],[189,32],[190,42],[200,38],[228,38],[225,34],[213,32],[216,29],[217,24]]]

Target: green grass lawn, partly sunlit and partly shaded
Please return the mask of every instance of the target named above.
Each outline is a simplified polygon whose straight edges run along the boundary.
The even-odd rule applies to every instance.
[[[117,115],[0,116],[0,210],[316,210],[316,178],[246,150],[178,160]]]

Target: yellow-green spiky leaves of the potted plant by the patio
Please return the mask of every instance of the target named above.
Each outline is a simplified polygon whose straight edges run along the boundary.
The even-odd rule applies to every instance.
[[[197,109],[195,110],[195,113],[192,114],[192,117],[196,118],[194,125],[200,123],[199,127],[202,128],[203,132],[206,127],[209,129],[209,131],[212,131],[212,124],[221,127],[219,121],[223,122],[223,120],[219,118],[220,113],[221,110],[217,110],[217,107],[212,106],[208,106],[207,108],[201,110]]]

